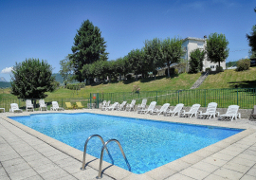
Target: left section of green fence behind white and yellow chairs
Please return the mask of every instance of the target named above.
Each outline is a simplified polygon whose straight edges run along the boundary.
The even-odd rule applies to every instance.
[[[31,99],[32,101],[35,101],[34,108],[35,110],[39,110],[39,99]],[[65,102],[71,102],[71,104],[74,104],[76,102],[82,102],[83,107],[87,107],[87,103],[90,99],[84,99],[84,98],[68,98],[68,99],[45,99],[47,109],[49,110],[52,106],[52,101],[58,101],[58,104],[60,107],[65,106]],[[25,110],[26,109],[26,99],[0,99],[0,108],[5,108],[6,112],[9,112],[10,103],[17,103],[19,105],[20,109]]]

